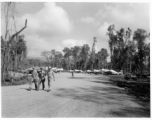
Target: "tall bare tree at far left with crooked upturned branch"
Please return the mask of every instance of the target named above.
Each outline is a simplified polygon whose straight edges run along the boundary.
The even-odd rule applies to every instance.
[[[18,35],[27,27],[27,20],[25,21],[25,26],[19,31],[16,30],[15,25],[15,2],[4,2],[2,3],[2,20],[5,23],[5,37],[3,38],[4,47],[3,47],[3,58],[2,58],[2,80],[5,81],[6,77],[9,73],[9,66],[12,64],[12,61],[16,61],[16,59],[12,59],[12,51],[11,48],[14,46],[14,43],[17,43],[15,40],[18,38]],[[15,32],[13,32],[15,31]],[[16,54],[16,51],[14,51]]]

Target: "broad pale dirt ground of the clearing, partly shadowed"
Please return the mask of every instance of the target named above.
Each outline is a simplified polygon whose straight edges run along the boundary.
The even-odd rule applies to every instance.
[[[2,87],[2,117],[150,117],[150,110],[109,76],[55,74],[51,91],[28,91],[29,85]],[[46,82],[46,90],[47,90]]]

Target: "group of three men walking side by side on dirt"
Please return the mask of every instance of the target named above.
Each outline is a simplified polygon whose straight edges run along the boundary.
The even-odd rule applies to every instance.
[[[48,71],[44,71],[43,68],[41,67],[40,71],[37,71],[33,67],[32,79],[30,80],[29,90],[31,91],[31,89],[32,89],[32,83],[35,84],[35,89],[37,91],[39,91],[40,85],[42,83],[42,89],[44,90],[46,77],[48,79],[48,90],[47,91],[49,92],[51,90],[51,80],[54,79],[54,81],[55,81],[55,76],[52,71],[52,68],[48,67]]]

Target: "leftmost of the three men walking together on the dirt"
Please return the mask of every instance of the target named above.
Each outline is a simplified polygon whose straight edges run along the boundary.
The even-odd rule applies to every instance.
[[[38,73],[37,73],[36,69],[33,67],[32,79],[30,81],[30,87],[29,87],[30,91],[32,89],[33,82],[35,83],[35,90],[38,90],[38,80],[39,80]]]

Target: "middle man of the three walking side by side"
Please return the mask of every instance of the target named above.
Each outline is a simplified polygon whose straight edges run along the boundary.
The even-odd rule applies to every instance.
[[[42,83],[42,89],[44,90],[44,88],[45,88],[45,76],[46,76],[46,73],[43,70],[43,68],[41,67],[40,72],[39,72],[40,82],[39,82],[39,85],[38,85],[38,90],[40,88],[41,83]]]

